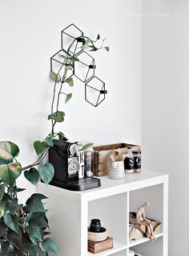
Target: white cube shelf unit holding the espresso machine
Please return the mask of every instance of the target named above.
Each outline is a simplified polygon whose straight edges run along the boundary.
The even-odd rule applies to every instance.
[[[142,170],[126,175],[123,180],[100,178],[102,186],[84,192],[72,192],[45,184],[38,192],[49,197],[46,209],[51,237],[58,244],[58,256],[128,256],[129,249],[145,256],[168,256],[168,175]],[[150,201],[147,217],[163,222],[163,233],[155,242],[146,237],[129,242],[129,213]],[[114,248],[99,254],[87,252],[87,227],[92,218],[99,218],[114,238]]]

